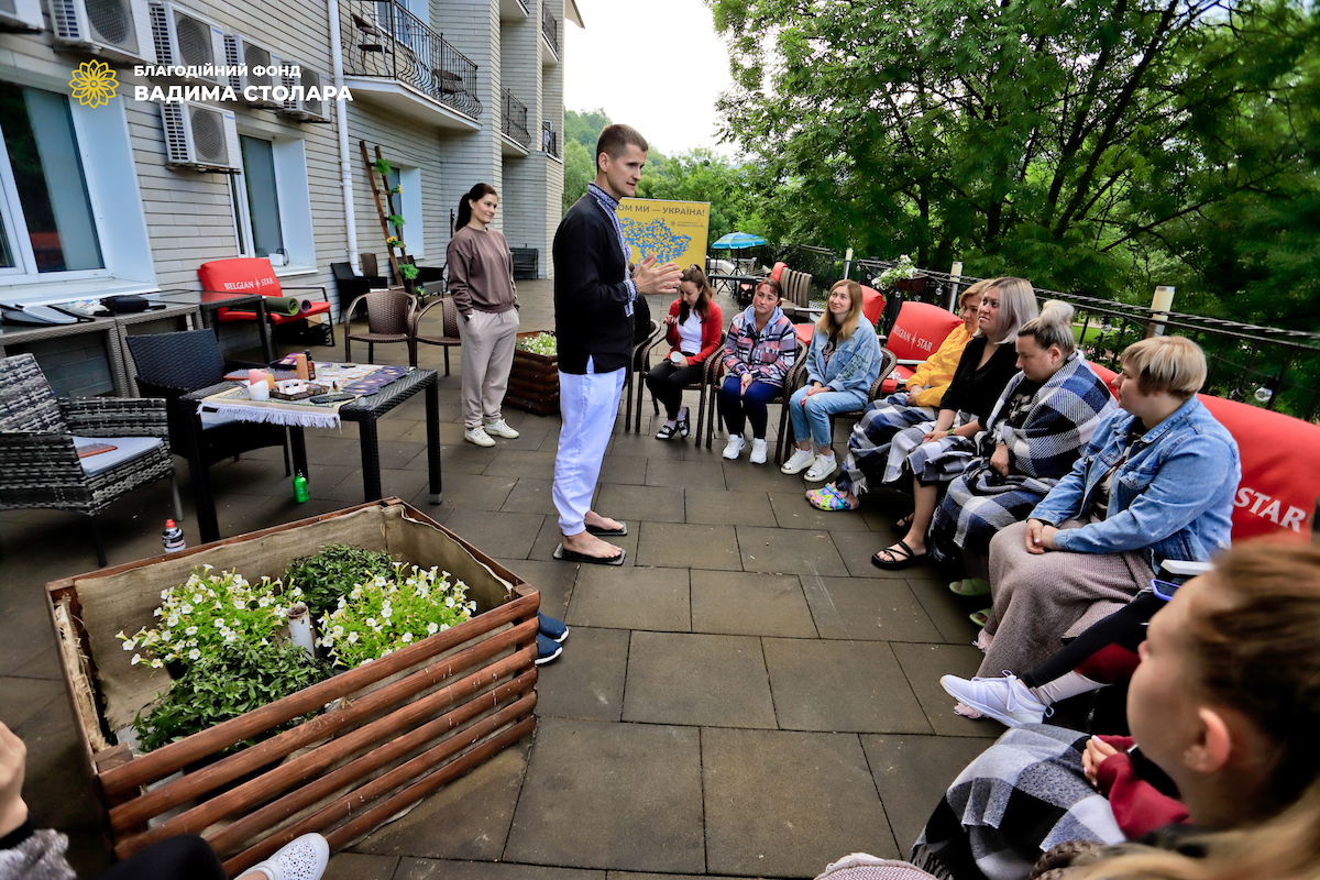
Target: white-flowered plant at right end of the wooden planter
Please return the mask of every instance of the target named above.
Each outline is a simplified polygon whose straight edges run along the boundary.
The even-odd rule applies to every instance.
[[[321,616],[318,645],[339,666],[360,666],[388,657],[414,641],[457,627],[477,611],[467,584],[447,571],[395,565],[395,577],[376,575],[354,584],[339,607]]]

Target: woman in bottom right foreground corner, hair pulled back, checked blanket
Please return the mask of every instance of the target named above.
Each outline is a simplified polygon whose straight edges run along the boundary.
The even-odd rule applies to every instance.
[[[1036,871],[1090,850],[1102,862],[1071,879],[1320,873],[1320,548],[1226,550],[1151,617],[1140,658],[1131,738],[1008,731],[945,793],[912,862],[939,877],[1022,880],[1069,844]],[[1148,839],[1192,858],[1080,846],[1160,829]]]

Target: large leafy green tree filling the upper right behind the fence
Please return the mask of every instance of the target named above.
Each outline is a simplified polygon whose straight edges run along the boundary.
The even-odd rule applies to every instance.
[[[776,237],[1102,294],[1148,296],[1152,270],[1228,293],[1224,259],[1233,284],[1270,259],[1320,276],[1313,211],[1283,207],[1317,191],[1320,17],[1299,3],[710,1],[726,131],[762,160]],[[1258,256],[1208,249],[1247,219]]]

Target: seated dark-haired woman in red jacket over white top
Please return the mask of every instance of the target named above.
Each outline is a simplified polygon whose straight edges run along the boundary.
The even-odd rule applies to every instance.
[[[701,267],[692,264],[684,269],[678,280],[678,298],[669,305],[669,315],[664,319],[664,338],[673,351],[647,371],[647,388],[664,404],[665,412],[665,424],[656,433],[656,439],[688,435],[682,389],[701,381],[701,371],[719,347],[719,334],[725,327],[725,317],[714,303],[714,296]]]

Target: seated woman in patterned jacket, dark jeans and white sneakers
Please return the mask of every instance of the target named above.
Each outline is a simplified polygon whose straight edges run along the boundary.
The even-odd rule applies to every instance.
[[[784,379],[797,359],[793,322],[779,307],[779,282],[756,282],[751,305],[734,315],[725,336],[725,371],[719,385],[719,416],[729,429],[725,458],[742,454],[743,427],[751,422],[751,463],[766,463],[766,402],[784,389]]]

